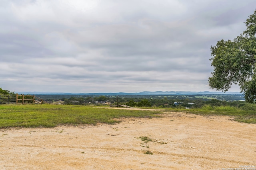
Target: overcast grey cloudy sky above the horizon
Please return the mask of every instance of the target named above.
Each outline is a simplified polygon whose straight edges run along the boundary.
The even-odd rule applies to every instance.
[[[255,0],[1,0],[0,88],[215,91],[210,47],[240,35],[255,9]]]

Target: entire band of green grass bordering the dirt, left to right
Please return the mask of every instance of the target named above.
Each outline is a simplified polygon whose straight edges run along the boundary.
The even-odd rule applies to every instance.
[[[0,128],[6,127],[55,127],[118,123],[121,117],[160,117],[164,111],[188,112],[202,115],[227,115],[244,123],[256,123],[256,111],[236,107],[205,106],[201,109],[162,109],[162,111],[104,109],[90,106],[70,105],[0,105]]]

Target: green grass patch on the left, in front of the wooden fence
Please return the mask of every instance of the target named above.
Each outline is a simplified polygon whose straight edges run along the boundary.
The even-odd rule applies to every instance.
[[[118,123],[120,117],[158,117],[159,111],[104,109],[68,105],[0,105],[0,128],[56,127]]]

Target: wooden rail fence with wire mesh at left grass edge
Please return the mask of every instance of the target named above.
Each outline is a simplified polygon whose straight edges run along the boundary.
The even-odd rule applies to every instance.
[[[35,97],[35,95],[9,94],[0,95],[0,104],[35,104],[35,98],[37,99],[37,104],[46,103],[42,99]]]

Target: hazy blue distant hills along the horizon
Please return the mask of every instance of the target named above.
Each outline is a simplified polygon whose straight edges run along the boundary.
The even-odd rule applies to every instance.
[[[170,92],[138,92],[138,93],[63,93],[63,92],[16,92],[18,94],[80,94],[80,95],[102,95],[102,96],[116,96],[116,95],[195,95],[195,94],[242,94],[240,92],[184,92],[184,91],[170,91]]]

